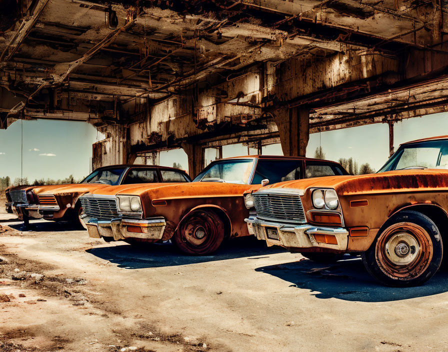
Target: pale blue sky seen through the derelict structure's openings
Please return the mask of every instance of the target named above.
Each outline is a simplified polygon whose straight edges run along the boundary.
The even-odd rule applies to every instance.
[[[0,177],[13,180],[20,176],[21,121],[12,123],[8,129],[0,129]],[[436,135],[448,134],[448,112],[404,119],[394,124],[394,146],[399,143]],[[92,156],[92,143],[102,138],[96,129],[81,121],[32,120],[23,121],[23,176],[29,181],[35,178],[64,178],[73,174],[81,178],[88,174]],[[321,145],[325,157],[336,160],[353,157],[359,164],[368,162],[378,170],[389,156],[388,126],[385,123],[370,124],[321,133],[309,137],[307,156],[314,156]],[[251,154],[256,150],[250,150]],[[247,146],[225,145],[223,157],[247,155]],[[279,144],[263,147],[263,154],[281,155]],[[206,152],[212,158],[212,152]],[[180,162],[187,167],[186,154],[182,149],[163,151],[159,163],[172,166]]]

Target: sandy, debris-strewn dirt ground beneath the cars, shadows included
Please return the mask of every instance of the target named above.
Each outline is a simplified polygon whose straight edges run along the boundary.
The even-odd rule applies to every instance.
[[[448,350],[445,271],[397,289],[358,258],[323,266],[249,237],[189,257],[0,211],[1,352]]]

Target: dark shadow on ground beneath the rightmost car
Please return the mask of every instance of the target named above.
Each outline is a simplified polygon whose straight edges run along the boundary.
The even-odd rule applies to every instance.
[[[288,262],[256,268],[308,289],[317,298],[338,298],[350,301],[385,302],[424,297],[448,291],[448,270],[440,269],[429,281],[417,287],[387,287],[376,282],[365,270],[360,257],[347,256],[332,264],[312,260]]]

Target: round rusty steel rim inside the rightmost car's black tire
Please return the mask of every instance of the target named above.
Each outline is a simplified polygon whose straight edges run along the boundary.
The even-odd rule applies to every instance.
[[[418,277],[429,266],[432,255],[429,234],[415,223],[395,223],[376,242],[376,262],[382,272],[394,279]]]

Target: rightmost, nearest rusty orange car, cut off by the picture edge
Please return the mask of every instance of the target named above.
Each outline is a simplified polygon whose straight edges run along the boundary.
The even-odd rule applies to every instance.
[[[429,279],[448,228],[448,136],[403,143],[374,174],[281,182],[246,192],[248,230],[317,261],[360,253],[393,286]]]

